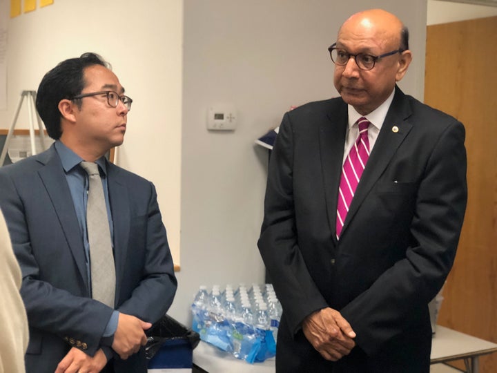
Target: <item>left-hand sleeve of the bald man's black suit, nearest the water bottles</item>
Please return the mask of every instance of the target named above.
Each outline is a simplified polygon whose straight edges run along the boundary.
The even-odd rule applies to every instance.
[[[304,318],[327,307],[300,252],[293,202],[293,128],[288,113],[271,153],[264,221],[257,245],[292,333]]]

